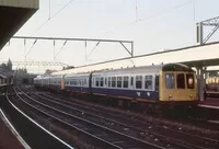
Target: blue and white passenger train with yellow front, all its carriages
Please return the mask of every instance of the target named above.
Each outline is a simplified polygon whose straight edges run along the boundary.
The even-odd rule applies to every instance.
[[[140,103],[197,103],[195,71],[182,64],[41,76],[34,79],[34,85]]]

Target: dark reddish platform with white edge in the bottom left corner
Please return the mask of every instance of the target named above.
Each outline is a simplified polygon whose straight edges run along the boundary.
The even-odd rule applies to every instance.
[[[11,125],[0,108],[0,148],[1,149],[31,149],[19,133]]]

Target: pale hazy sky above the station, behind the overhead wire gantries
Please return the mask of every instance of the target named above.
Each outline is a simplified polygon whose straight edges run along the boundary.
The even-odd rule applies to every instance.
[[[132,41],[135,56],[195,45],[196,22],[219,16],[218,0],[39,0],[18,36]],[[49,4],[50,3],[50,4]],[[209,31],[207,28],[206,31]],[[210,42],[218,41],[219,34]],[[11,39],[0,58],[83,66],[128,57],[118,43]],[[32,47],[33,46],[33,47]],[[126,44],[130,49],[130,45]],[[55,57],[55,59],[54,59]],[[178,57],[180,58],[180,57]]]

